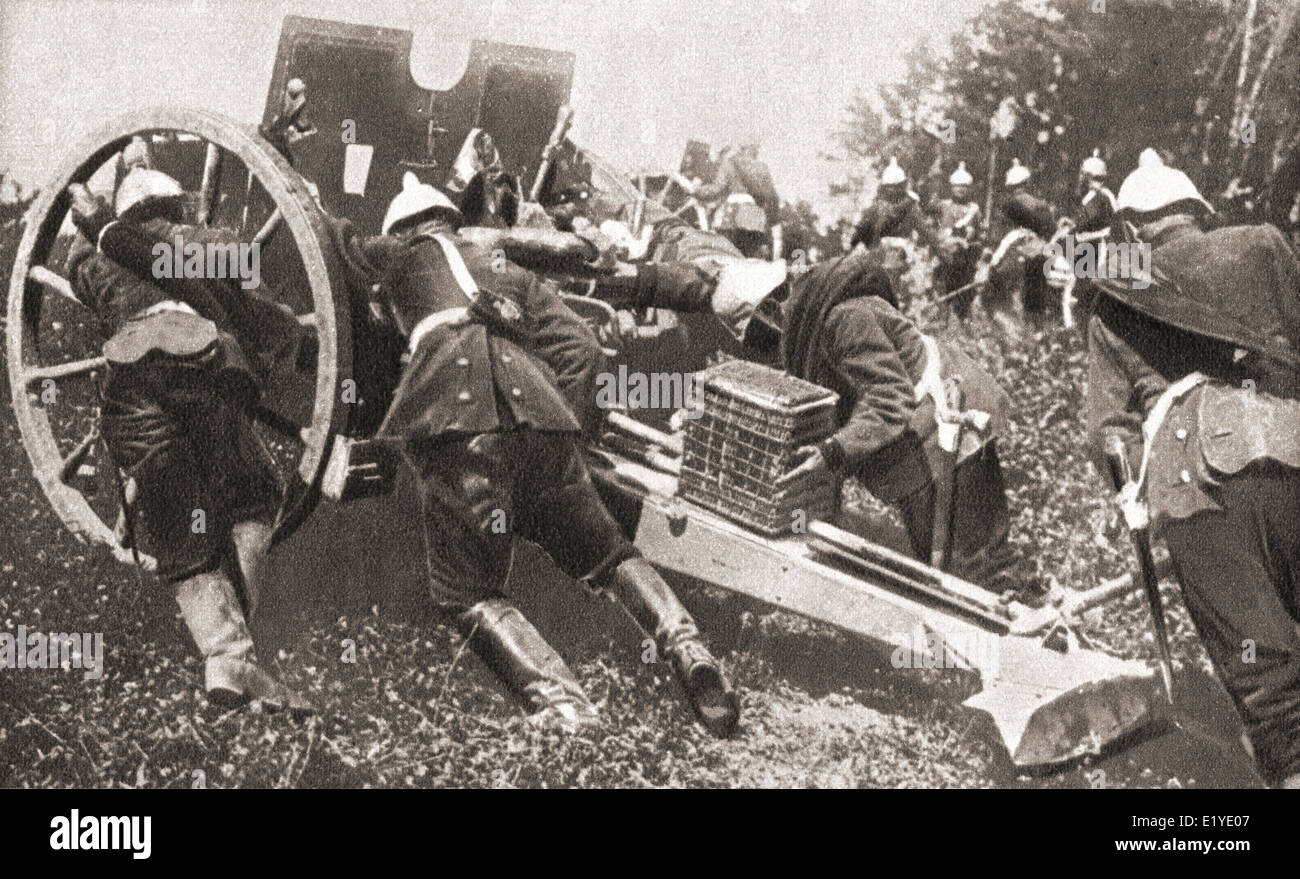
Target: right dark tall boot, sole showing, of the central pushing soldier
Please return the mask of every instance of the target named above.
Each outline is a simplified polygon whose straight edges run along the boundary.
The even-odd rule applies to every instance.
[[[667,657],[686,690],[690,707],[708,732],[728,737],[740,724],[740,697],[699,638],[696,620],[659,572],[644,558],[630,558],[610,577],[610,592]]]

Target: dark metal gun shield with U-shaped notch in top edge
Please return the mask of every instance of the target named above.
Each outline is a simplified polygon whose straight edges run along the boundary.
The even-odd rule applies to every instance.
[[[281,113],[300,79],[303,116],[317,134],[294,147],[294,163],[320,186],[321,203],[378,233],[384,211],[413,170],[441,186],[471,129],[488,131],[503,170],[532,182],[555,114],[568,103],[573,55],[473,40],[460,81],[446,91],[411,74],[412,33],[286,16],[263,124]],[[369,148],[361,192],[344,185],[350,148]],[[351,191],[348,191],[351,189]]]

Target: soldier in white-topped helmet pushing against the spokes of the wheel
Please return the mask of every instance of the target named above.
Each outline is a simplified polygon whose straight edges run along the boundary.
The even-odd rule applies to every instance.
[[[135,489],[127,514],[139,545],[176,588],[214,702],[261,698],[307,711],[257,666],[246,620],[282,494],[250,408],[268,372],[296,360],[303,330],[238,280],[153,277],[142,228],[169,244],[237,243],[229,230],[186,225],[185,195],[166,174],[131,169],[114,198],[118,221],[83,186],[70,195],[74,221],[99,243],[79,242],[69,273],[108,337],[100,425]],[[142,243],[143,259],[133,260]]]

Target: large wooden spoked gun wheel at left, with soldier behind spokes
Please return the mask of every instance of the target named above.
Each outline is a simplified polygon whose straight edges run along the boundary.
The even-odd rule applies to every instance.
[[[207,142],[205,186],[225,159],[238,159],[243,165],[240,173],[248,179],[243,195],[244,225],[247,202],[255,195],[264,202],[263,213],[269,212],[273,203],[280,220],[278,235],[287,229],[302,261],[298,277],[306,277],[309,296],[308,290],[296,283],[289,285],[298,287],[289,291],[296,302],[283,300],[299,315],[302,324],[315,328],[318,350],[313,404],[302,406],[295,419],[270,419],[282,434],[276,442],[278,456],[292,459],[287,464],[292,471],[289,480],[291,501],[286,503],[283,519],[296,520],[307,511],[333,437],[346,421],[341,387],[351,377],[346,285],[338,260],[326,244],[324,216],[303,178],[254,126],[200,109],[155,108],[124,116],[86,138],[27,212],[9,283],[5,360],[22,442],[51,506],[78,540],[104,544],[122,560],[131,560],[133,553],[124,545],[124,529],[116,521],[120,484],[116,475],[108,476],[112,464],[98,436],[95,389],[104,369],[99,350],[103,338],[73,330],[94,324],[94,317],[77,303],[68,278],[52,265],[52,256],[61,233],[70,231],[68,186],[87,182],[134,137],[160,131]],[[204,208],[200,216],[205,218],[207,213]],[[272,225],[274,221],[266,224],[264,234]],[[244,237],[252,238],[247,229]],[[311,386],[308,376],[304,397]],[[148,564],[147,559],[142,560]]]

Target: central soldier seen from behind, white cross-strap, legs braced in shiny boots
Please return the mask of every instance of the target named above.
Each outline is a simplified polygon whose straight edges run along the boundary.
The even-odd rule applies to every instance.
[[[351,270],[381,285],[410,339],[377,436],[398,442],[415,471],[434,601],[541,722],[597,723],[564,661],[507,598],[517,538],[532,540],[564,572],[618,597],[655,636],[701,722],[731,735],[734,690],[606,511],[577,446],[562,390],[573,364],[598,352],[595,337],[575,339],[576,319],[550,282],[460,238],[460,216],[407,174],[384,235],[334,229]]]

